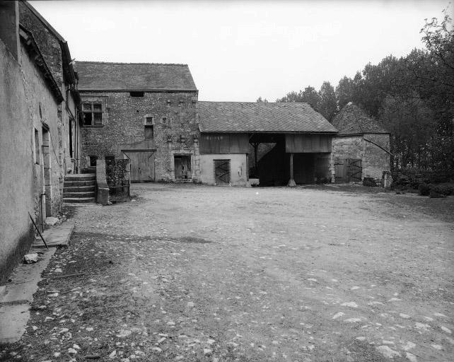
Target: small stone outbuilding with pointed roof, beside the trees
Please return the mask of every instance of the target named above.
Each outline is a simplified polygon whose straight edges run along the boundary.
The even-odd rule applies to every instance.
[[[390,134],[354,103],[332,120],[339,130],[332,140],[336,182],[380,178],[390,170]]]

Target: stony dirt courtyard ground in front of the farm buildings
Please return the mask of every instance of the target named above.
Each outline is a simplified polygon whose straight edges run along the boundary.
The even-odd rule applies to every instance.
[[[71,244],[0,359],[453,361],[454,197],[170,184],[132,194],[74,206]]]

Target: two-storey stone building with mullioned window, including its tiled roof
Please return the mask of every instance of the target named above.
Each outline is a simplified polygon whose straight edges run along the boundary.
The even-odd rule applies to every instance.
[[[198,91],[185,64],[77,62],[83,168],[129,158],[132,182],[199,179]]]

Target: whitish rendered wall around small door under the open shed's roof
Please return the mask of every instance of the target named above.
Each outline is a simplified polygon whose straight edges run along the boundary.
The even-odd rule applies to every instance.
[[[231,186],[248,185],[248,164],[245,153],[200,155],[200,181],[216,185],[214,160],[230,160]]]

